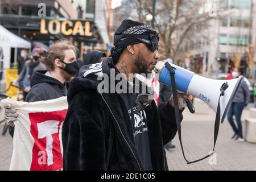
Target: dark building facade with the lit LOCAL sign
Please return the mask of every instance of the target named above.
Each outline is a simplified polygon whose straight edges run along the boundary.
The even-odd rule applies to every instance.
[[[105,49],[109,44],[107,28],[98,22],[101,1],[104,0],[1,0],[0,24],[33,46],[47,47],[67,38],[80,49],[82,57],[84,46]],[[12,53],[11,62],[14,61]]]

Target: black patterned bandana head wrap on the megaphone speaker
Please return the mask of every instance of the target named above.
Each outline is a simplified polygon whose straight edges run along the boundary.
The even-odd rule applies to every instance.
[[[111,49],[113,63],[116,64],[123,50],[127,46],[144,43],[148,48],[155,52],[158,49],[159,35],[158,32],[141,22],[135,22],[130,19],[123,20],[114,35],[114,46]]]

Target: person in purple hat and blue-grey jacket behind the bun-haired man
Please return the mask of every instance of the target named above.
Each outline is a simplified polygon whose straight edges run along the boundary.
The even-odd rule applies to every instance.
[[[43,63],[40,63],[39,61],[39,52],[40,48],[35,47],[32,50],[32,60],[26,61],[24,64],[24,67],[22,69],[22,72],[20,72],[18,80],[16,80],[16,84],[20,86],[20,88],[23,89],[23,100],[26,100],[27,93],[30,91],[30,82],[32,73],[36,70],[44,70],[46,67],[43,65]]]

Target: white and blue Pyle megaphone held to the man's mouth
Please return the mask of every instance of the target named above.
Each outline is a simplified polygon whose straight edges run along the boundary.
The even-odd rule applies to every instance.
[[[171,64],[175,70],[176,88],[180,92],[189,93],[200,98],[208,104],[216,112],[218,100],[221,93],[221,86],[227,82],[228,88],[225,90],[224,96],[220,97],[220,118],[223,123],[233,98],[241,83],[241,77],[233,80],[212,80],[181,68],[175,64]],[[170,71],[163,61],[158,61],[155,66],[156,78],[164,85],[171,86]]]

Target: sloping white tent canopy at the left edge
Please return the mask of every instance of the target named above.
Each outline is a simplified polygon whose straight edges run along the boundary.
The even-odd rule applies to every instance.
[[[31,48],[31,43],[27,40],[20,38],[19,36],[13,34],[5,27],[1,26],[0,24],[0,34],[5,35],[10,40],[10,46],[13,48]]]

